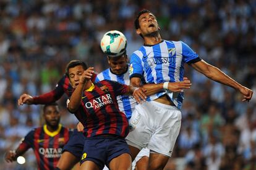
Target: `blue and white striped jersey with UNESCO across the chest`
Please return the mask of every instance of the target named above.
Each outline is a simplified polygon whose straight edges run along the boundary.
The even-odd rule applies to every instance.
[[[184,63],[200,61],[198,55],[182,41],[166,41],[144,45],[130,57],[130,78],[140,77],[145,83],[179,82],[184,77]],[[181,109],[184,94],[160,91],[148,96],[155,100],[167,93],[177,108]]]

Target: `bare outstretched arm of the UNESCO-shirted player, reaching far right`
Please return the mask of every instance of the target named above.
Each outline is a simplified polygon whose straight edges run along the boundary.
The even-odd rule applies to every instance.
[[[247,87],[242,86],[240,83],[236,82],[235,80],[231,79],[228,75],[224,74],[220,69],[215,66],[211,66],[207,62],[201,60],[195,63],[190,64],[195,70],[204,74],[211,80],[215,80],[216,82],[222,83],[224,85],[228,85],[232,87],[244,96],[242,101],[249,101],[252,98],[253,91]]]

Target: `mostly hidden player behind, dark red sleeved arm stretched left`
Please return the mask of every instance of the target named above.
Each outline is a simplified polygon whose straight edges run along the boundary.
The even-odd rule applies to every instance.
[[[82,66],[85,70],[87,69],[87,65],[85,62],[79,60],[72,60],[67,65],[72,66]],[[67,71],[66,71],[67,72]],[[92,81],[95,81],[96,74],[93,74]],[[22,104],[46,104],[57,101],[61,98],[64,93],[67,97],[70,97],[74,88],[70,84],[69,75],[65,74],[58,82],[54,90],[49,91],[40,96],[30,96],[28,94],[22,94],[18,100],[18,105]],[[74,130],[72,136],[69,139],[69,142],[65,145],[62,150],[61,158],[59,159],[57,168],[59,169],[71,169],[76,163],[79,163],[80,156],[83,151],[83,127],[81,124],[77,125],[77,129]],[[80,128],[79,128],[80,127]],[[80,129],[80,130],[79,130]],[[81,131],[81,132],[79,132]]]

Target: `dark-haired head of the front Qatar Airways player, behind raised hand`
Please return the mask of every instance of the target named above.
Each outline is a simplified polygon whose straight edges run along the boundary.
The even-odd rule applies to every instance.
[[[69,77],[73,88],[76,88],[77,85],[79,85],[79,79],[84,70],[87,70],[87,65],[80,60],[72,60],[67,64],[66,75]]]

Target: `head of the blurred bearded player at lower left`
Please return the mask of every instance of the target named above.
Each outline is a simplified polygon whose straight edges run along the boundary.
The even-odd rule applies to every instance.
[[[61,113],[59,113],[59,106],[57,103],[49,103],[43,106],[43,117],[46,125],[57,127],[61,120]]]

